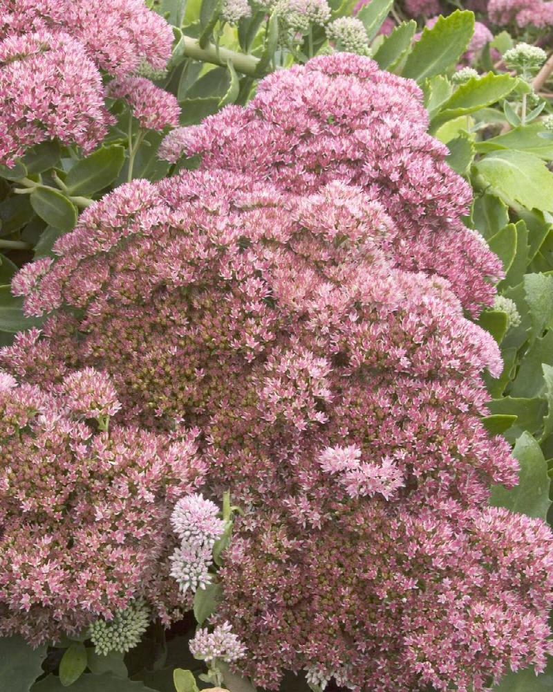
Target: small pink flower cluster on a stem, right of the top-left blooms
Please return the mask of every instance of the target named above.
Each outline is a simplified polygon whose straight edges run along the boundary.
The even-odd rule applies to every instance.
[[[180,106],[176,97],[144,77],[124,77],[110,82],[108,93],[124,99],[144,129],[163,130],[178,125]]]

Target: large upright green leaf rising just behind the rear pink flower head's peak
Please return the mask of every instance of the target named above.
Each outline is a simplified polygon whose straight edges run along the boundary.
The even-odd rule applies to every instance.
[[[420,82],[444,72],[465,53],[473,33],[472,12],[456,10],[448,17],[440,16],[431,29],[424,29],[413,46],[402,76]]]

